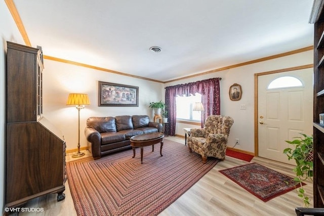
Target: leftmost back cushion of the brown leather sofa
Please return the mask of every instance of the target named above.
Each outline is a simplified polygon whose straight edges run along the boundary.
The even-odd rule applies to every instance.
[[[116,132],[114,117],[90,117],[87,126],[96,129],[99,133]]]

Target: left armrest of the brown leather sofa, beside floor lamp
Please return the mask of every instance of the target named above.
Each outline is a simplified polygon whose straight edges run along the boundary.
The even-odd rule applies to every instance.
[[[92,127],[86,127],[85,128],[85,136],[87,138],[87,141],[91,143],[91,150],[92,150],[92,156],[94,159],[99,159],[101,157],[101,135],[100,133],[92,128]]]

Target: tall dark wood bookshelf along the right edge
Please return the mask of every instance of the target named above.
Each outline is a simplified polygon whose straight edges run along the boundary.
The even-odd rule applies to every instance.
[[[324,126],[319,114],[324,112],[324,0],[315,0],[310,16],[314,24],[314,106],[313,106],[313,202],[315,208],[324,207]]]

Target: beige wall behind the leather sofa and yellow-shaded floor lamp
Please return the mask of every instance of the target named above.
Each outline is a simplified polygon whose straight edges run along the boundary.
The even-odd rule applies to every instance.
[[[45,50],[45,48],[43,48]],[[45,53],[46,55],[46,53]],[[64,135],[66,148],[76,149],[78,140],[77,110],[66,106],[69,93],[89,95],[90,106],[80,111],[80,145],[87,146],[84,135],[87,118],[91,116],[149,115],[152,101],[164,100],[164,84],[144,79],[121,76],[100,70],[75,66],[52,60],[44,60],[43,113]],[[99,107],[98,81],[120,83],[139,87],[138,107]]]

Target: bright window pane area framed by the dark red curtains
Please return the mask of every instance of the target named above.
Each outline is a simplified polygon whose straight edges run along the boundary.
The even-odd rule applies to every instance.
[[[201,95],[178,96],[176,97],[177,119],[185,119],[200,122],[201,113],[199,111],[192,111],[193,105],[196,102],[201,102]]]

